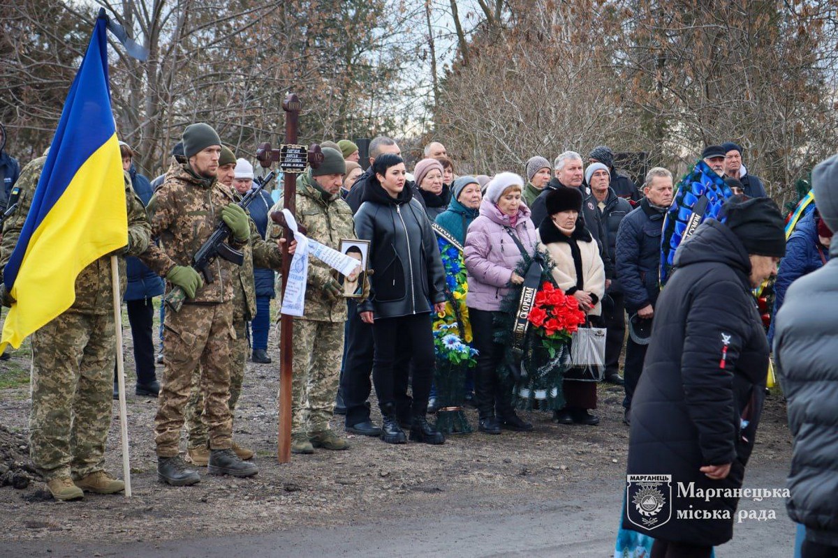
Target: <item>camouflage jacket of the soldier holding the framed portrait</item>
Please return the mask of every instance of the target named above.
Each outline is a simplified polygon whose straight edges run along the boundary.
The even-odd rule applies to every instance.
[[[328,201],[317,187],[313,186],[311,171],[297,177],[297,206],[294,218],[307,229],[306,236],[335,250],[340,248],[341,238],[355,238],[352,210],[340,198]],[[282,211],[282,197],[271,211]],[[268,223],[268,237],[281,238],[282,227]],[[306,283],[305,315],[301,320],[328,322],[346,321],[346,299],[329,299],[323,294],[323,287],[329,279],[336,279],[337,272],[319,259],[309,256],[308,281]],[[278,276],[281,282],[282,277]]]

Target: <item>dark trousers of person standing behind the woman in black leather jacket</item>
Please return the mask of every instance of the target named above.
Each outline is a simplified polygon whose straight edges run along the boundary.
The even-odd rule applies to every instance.
[[[361,321],[357,312],[358,303],[348,301],[349,318],[346,327],[344,369],[340,376],[340,392],[344,397],[346,417],[344,424],[348,427],[370,420],[370,393],[372,382],[373,356],[375,354],[375,340],[373,340],[372,325]],[[396,414],[401,421],[407,421],[411,413],[411,397],[407,395],[407,374],[410,356],[399,355],[394,375],[394,394],[396,397]]]

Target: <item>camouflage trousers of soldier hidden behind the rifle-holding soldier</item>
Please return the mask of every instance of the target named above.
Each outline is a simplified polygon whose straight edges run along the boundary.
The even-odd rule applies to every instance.
[[[230,401],[227,402],[230,415],[235,412],[235,404],[239,401],[247,366],[247,322],[244,315],[235,316],[233,329],[235,340],[230,357]],[[206,448],[209,443],[207,427],[201,420],[204,416],[204,394],[200,390],[200,377],[201,369],[198,367],[192,375],[192,393],[189,395],[189,402],[186,403],[186,438],[189,448]]]

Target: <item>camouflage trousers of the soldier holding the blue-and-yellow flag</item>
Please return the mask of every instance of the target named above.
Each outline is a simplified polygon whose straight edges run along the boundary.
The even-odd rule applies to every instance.
[[[67,310],[32,334],[29,455],[44,480],[102,469],[111,427],[113,314]]]

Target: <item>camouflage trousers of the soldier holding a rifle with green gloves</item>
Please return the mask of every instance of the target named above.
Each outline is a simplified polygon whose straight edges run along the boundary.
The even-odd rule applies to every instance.
[[[202,420],[209,430],[209,447],[232,447],[233,419],[230,398],[230,347],[235,339],[233,305],[184,305],[166,312],[163,323],[163,383],[154,417],[154,441],[159,457],[178,455],[184,407],[189,401],[192,376],[200,366],[204,395]]]

